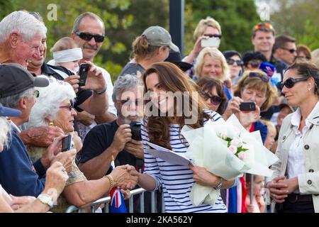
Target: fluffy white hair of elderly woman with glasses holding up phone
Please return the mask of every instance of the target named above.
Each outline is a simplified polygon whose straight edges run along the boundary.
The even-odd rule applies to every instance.
[[[42,75],[38,77],[47,78]],[[74,100],[76,97],[69,83],[53,77],[49,81],[50,84],[47,87],[35,87],[39,91],[39,97],[31,110],[29,121],[26,123],[27,128],[48,126],[49,123],[45,118],[52,117],[55,120],[62,101]]]

